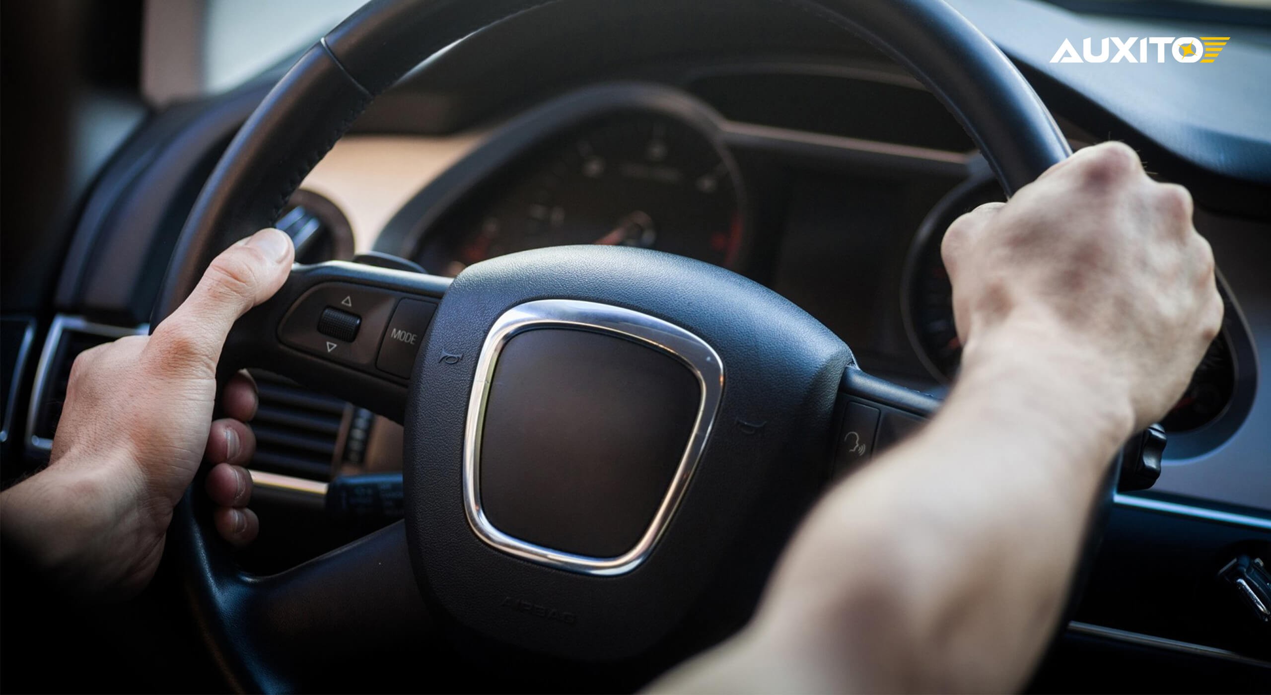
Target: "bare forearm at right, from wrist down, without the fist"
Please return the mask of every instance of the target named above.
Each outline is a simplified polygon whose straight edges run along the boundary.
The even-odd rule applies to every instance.
[[[939,417],[834,489],[796,536],[754,624],[669,687],[1021,685],[1063,609],[1096,489],[1132,422],[1117,385],[1047,349],[1026,333],[969,346]]]

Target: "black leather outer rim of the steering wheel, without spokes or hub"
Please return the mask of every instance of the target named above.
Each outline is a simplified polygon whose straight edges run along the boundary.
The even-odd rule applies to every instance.
[[[269,91],[207,180],[182,230],[151,325],[184,301],[219,252],[275,224],[289,196],[379,93],[472,32],[555,1],[374,0],[323,37]],[[1014,65],[943,0],[774,1],[866,39],[919,79],[972,137],[1008,194],[1070,154]],[[225,629],[240,616],[222,615],[226,606],[250,610],[233,596],[271,578],[236,569],[193,497],[187,493],[178,507],[172,536],[189,569],[196,619],[236,687],[285,689],[285,681],[271,676],[271,657],[248,653],[250,645]],[[409,565],[404,550],[399,560]],[[355,578],[347,583],[357,586]]]

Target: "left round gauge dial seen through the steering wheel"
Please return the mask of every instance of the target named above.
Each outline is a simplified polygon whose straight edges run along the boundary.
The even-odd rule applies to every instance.
[[[627,112],[529,152],[441,220],[418,259],[455,276],[519,250],[610,244],[735,267],[744,235],[728,152],[679,118]]]

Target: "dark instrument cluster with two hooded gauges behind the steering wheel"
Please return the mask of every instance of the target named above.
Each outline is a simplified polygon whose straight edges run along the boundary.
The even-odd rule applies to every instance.
[[[756,91],[774,89],[774,79],[787,91],[846,84],[904,100],[910,118],[947,119],[930,95],[886,72],[768,70],[731,79],[754,81],[745,88]],[[714,75],[698,91],[709,98],[719,81]],[[736,98],[721,102],[737,107]],[[782,116],[769,107],[761,117],[780,123]],[[587,85],[489,132],[402,205],[377,246],[449,277],[496,255],[567,244],[695,258],[791,299],[848,342],[867,368],[942,394],[957,375],[961,344],[939,241],[958,215],[1005,198],[972,149],[928,146],[967,142],[902,140],[736,122],[702,97],[657,83]],[[1074,149],[1084,145],[1073,140]],[[756,150],[765,159],[750,156]],[[810,152],[839,161],[801,161]],[[322,182],[330,173],[316,175]],[[760,216],[768,221],[756,224]],[[1225,282],[1221,292],[1238,318]],[[1249,403],[1238,398],[1248,395],[1239,365],[1252,365],[1252,344],[1235,320],[1160,423],[1172,437],[1169,459],[1205,454],[1240,427]]]

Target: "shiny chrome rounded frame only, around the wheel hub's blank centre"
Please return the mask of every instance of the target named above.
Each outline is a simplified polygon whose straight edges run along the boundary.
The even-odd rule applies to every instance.
[[[697,377],[700,388],[697,421],[675,475],[667,485],[666,496],[636,545],[615,558],[577,555],[512,537],[491,523],[482,508],[479,489],[480,440],[494,367],[501,351],[515,335],[547,327],[595,330],[658,349],[683,362]],[[719,400],[723,396],[723,361],[705,341],[648,314],[577,300],[529,301],[505,311],[491,327],[482,346],[464,427],[464,512],[473,532],[492,548],[558,569],[597,577],[614,577],[636,569],[652,553],[689,487],[689,480],[702,457],[702,450],[705,449]]]

